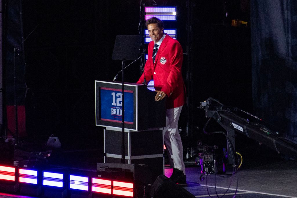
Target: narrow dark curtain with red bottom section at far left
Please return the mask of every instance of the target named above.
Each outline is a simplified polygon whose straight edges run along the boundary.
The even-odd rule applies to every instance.
[[[5,1],[4,12],[4,87],[8,137],[26,136],[25,54],[21,0]],[[14,106],[17,105],[17,108]],[[16,114],[17,113],[17,114]],[[18,125],[16,125],[16,119]],[[15,133],[17,129],[18,134]],[[17,136],[18,135],[18,136]]]

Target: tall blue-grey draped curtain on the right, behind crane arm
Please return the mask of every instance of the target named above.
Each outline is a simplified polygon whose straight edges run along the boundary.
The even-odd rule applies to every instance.
[[[297,1],[252,0],[252,89],[257,115],[297,142]]]

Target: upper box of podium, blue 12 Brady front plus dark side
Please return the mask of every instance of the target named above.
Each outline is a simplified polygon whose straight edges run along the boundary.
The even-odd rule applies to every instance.
[[[124,83],[125,129],[130,131],[166,125],[165,100],[155,101],[156,92],[146,85]],[[122,128],[122,83],[95,80],[96,125]]]

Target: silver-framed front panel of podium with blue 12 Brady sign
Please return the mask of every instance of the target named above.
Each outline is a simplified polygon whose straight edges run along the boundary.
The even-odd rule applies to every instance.
[[[146,86],[125,83],[124,84],[124,121],[125,129],[139,130],[138,106],[139,90],[146,89]],[[95,81],[95,105],[96,125],[108,126],[121,129],[122,123],[122,83]],[[142,104],[140,104],[142,106]]]

